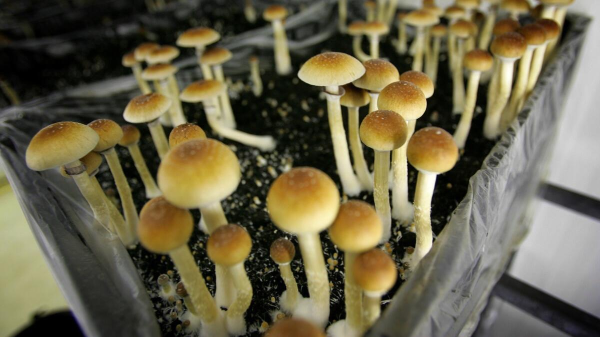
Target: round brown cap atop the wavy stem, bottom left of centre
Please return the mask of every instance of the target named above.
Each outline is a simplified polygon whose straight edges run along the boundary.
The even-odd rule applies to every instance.
[[[251,248],[250,235],[244,227],[235,224],[219,226],[206,242],[208,257],[215,264],[228,267],[243,262]]]

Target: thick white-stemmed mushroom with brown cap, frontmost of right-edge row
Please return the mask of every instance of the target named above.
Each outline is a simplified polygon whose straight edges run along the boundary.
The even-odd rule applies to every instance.
[[[488,97],[488,100],[492,99],[493,103],[485,114],[484,137],[494,139],[500,134],[500,117],[511,95],[515,61],[523,56],[527,49],[527,43],[523,35],[509,32],[494,38],[490,49],[494,58],[500,62],[496,70],[499,85],[496,98]]]

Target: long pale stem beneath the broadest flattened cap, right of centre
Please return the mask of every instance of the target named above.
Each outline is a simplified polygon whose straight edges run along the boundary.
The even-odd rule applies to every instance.
[[[352,170],[346,131],[341,118],[340,87],[328,86],[325,89],[327,97],[327,115],[331,142],[334,146],[335,165],[340,176],[341,186],[347,195],[358,195],[361,192],[361,183]]]

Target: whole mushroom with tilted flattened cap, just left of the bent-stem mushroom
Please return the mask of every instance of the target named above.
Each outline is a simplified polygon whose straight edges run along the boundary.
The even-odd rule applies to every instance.
[[[152,93],[134,97],[123,112],[123,118],[127,122],[148,124],[152,141],[161,159],[169,151],[169,143],[167,143],[167,137],[164,135],[163,126],[158,122],[158,118],[166,113],[170,106],[169,98]]]

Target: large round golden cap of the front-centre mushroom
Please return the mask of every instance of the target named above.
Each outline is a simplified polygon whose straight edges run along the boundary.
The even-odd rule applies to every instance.
[[[319,233],[334,221],[340,192],[331,178],[312,167],[296,167],[281,174],[266,196],[271,220],[294,234]]]

